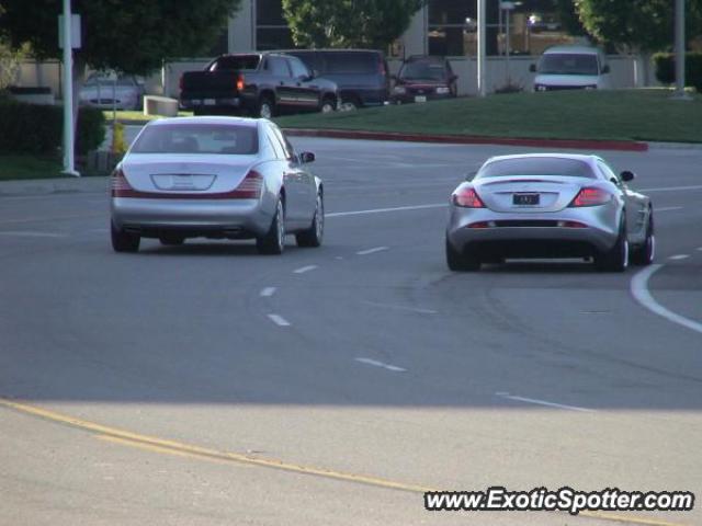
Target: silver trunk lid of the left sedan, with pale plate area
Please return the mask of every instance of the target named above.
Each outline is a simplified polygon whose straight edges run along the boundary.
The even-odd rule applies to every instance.
[[[222,193],[235,190],[256,163],[256,156],[131,155],[122,164],[139,192]]]

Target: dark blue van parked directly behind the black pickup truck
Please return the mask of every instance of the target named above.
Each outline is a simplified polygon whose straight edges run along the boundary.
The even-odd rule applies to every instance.
[[[382,52],[372,49],[291,49],[319,77],[339,87],[341,110],[381,106],[389,101],[389,73]]]

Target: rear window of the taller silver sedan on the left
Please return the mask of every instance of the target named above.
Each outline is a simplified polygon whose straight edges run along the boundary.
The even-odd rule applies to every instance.
[[[132,153],[258,153],[257,128],[216,124],[147,126]]]

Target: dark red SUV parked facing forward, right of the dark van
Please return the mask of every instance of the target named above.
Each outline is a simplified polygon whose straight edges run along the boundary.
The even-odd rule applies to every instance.
[[[411,56],[393,79],[390,100],[395,104],[456,96],[457,77],[443,57]]]

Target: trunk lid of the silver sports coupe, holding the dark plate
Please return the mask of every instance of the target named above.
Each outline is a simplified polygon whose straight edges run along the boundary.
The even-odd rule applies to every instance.
[[[486,178],[474,182],[475,190],[489,209],[503,213],[544,213],[562,210],[581,188],[578,178],[517,175]]]

